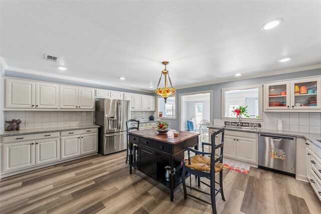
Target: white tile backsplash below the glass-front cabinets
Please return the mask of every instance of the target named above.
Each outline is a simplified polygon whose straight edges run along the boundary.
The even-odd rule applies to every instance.
[[[277,130],[279,119],[282,120],[285,131],[321,133],[321,113],[318,112],[263,112],[263,121],[259,122],[262,123],[262,128]],[[223,123],[223,120],[214,119],[214,125],[224,125]]]

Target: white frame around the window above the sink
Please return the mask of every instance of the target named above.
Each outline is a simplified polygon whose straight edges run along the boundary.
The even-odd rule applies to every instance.
[[[258,118],[243,117],[242,120],[253,121],[253,122],[263,121],[263,84],[239,86],[239,87],[232,87],[232,88],[222,88],[221,89],[221,119],[222,120],[232,120],[232,121],[239,120],[239,118],[225,117],[225,92],[233,91],[233,90],[252,89],[252,88],[258,88]]]

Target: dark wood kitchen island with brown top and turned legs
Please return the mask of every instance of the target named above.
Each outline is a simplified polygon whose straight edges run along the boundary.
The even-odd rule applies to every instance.
[[[158,134],[151,129],[129,132],[129,173],[132,167],[148,175],[171,189],[171,201],[174,189],[182,183],[182,166],[184,151],[188,147],[198,149],[199,134],[179,131],[174,136],[173,130],[167,134]],[[166,166],[170,166],[170,180],[166,180]]]

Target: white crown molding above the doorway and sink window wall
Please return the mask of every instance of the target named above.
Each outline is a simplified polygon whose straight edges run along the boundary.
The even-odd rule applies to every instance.
[[[233,82],[233,81],[253,79],[253,78],[258,78],[258,77],[273,76],[273,75],[279,75],[279,74],[288,74],[288,73],[308,71],[308,70],[319,69],[319,68],[321,68],[321,64],[312,65],[312,66],[305,66],[305,67],[300,67],[300,68],[279,70],[279,71],[271,71],[271,72],[261,73],[261,74],[251,74],[251,75],[246,75],[243,77],[229,77],[229,78],[222,78],[220,80],[215,80],[215,81],[192,83],[192,84],[187,84],[187,85],[176,87],[176,89],[192,88],[192,87],[198,87],[198,86],[212,85],[212,84],[225,83],[225,82]]]

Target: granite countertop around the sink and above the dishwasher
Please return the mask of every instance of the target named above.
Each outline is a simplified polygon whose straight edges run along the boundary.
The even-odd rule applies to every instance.
[[[223,126],[208,126],[208,127],[214,128],[214,129],[223,128]],[[256,128],[256,129],[239,129],[234,127],[224,127],[224,128],[225,130],[228,130],[228,131],[242,131],[242,132],[250,132],[250,133],[264,133],[264,134],[276,134],[276,135],[285,135],[285,136],[293,136],[293,137],[303,137],[321,149],[321,143],[316,141],[316,140],[321,140],[321,133],[284,131],[284,130],[279,131],[279,130],[264,129],[264,128]]]

